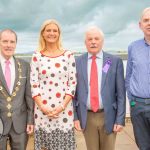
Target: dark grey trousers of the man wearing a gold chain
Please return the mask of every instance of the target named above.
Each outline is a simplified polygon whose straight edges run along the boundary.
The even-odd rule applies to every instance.
[[[15,132],[12,125],[9,133],[0,139],[0,150],[7,150],[8,138],[10,141],[11,150],[26,150],[28,139],[26,132],[18,134]]]

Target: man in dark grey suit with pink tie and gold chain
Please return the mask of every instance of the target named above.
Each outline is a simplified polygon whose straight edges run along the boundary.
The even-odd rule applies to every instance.
[[[30,90],[30,65],[14,57],[17,35],[11,29],[0,32],[0,117],[4,132],[0,150],[25,150],[27,134],[33,132],[33,107]]]

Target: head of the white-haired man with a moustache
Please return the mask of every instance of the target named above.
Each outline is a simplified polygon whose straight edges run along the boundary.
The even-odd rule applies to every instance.
[[[97,28],[86,32],[85,45],[89,53],[96,55],[103,47],[103,35]]]

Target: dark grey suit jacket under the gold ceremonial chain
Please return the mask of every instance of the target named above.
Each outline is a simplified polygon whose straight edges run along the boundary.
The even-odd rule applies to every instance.
[[[15,60],[16,78],[14,83],[14,90],[19,78],[18,64]],[[21,78],[19,91],[16,92],[16,96],[13,97],[11,102],[8,102],[6,97],[0,91],[0,117],[4,123],[4,135],[6,135],[11,125],[17,133],[22,133],[26,130],[27,124],[33,124],[33,110],[34,101],[31,97],[30,86],[30,65],[24,60],[18,59],[21,64]],[[6,85],[5,77],[3,75],[2,67],[0,65],[0,86],[3,87],[8,96],[11,96]],[[10,111],[7,108],[8,103],[11,105]],[[8,112],[11,112],[12,117],[8,117]]]

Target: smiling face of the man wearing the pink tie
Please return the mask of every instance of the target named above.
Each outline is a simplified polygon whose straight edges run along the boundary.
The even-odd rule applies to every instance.
[[[4,31],[0,36],[0,51],[5,59],[14,55],[16,48],[16,35],[10,31]]]

